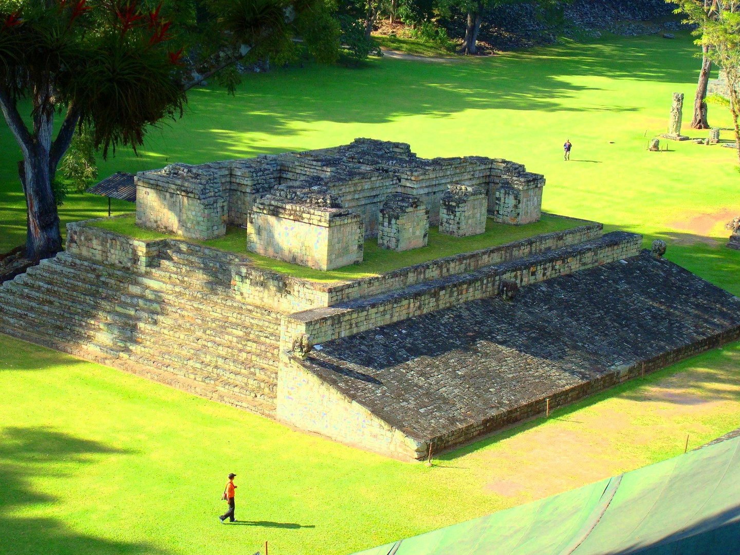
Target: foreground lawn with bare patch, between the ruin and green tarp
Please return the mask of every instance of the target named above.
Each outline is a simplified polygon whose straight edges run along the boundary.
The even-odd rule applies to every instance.
[[[702,445],[740,423],[739,366],[725,346],[428,468],[0,335],[2,551],[348,554]]]

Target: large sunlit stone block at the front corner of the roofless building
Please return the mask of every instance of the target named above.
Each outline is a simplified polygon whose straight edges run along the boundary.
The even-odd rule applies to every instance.
[[[258,255],[331,270],[362,262],[360,215],[343,209],[326,186],[279,185],[249,212],[247,248]]]

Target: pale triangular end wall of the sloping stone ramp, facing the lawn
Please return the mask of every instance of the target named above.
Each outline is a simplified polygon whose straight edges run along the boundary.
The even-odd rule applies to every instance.
[[[286,358],[277,378],[277,420],[401,460],[416,460],[426,448],[292,357]]]

